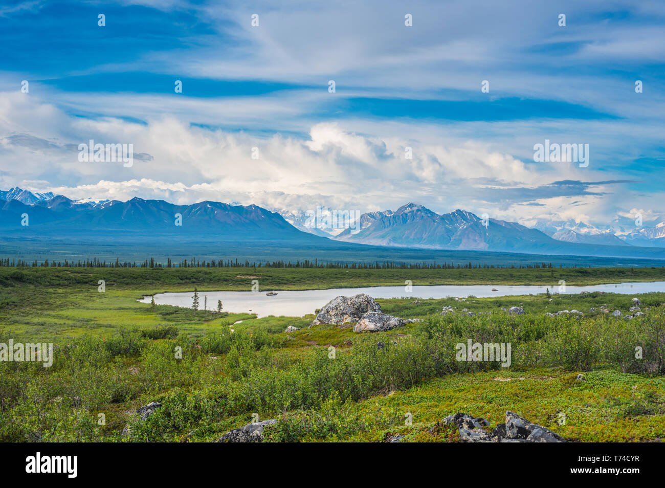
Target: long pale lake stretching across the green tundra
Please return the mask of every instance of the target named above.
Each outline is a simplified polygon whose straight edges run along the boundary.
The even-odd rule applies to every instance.
[[[497,291],[491,291],[493,288]],[[199,306],[203,308],[204,297],[207,296],[208,310],[217,307],[217,300],[221,300],[225,312],[257,314],[259,317],[269,315],[301,317],[313,314],[317,308],[321,308],[329,301],[339,295],[358,295],[366,293],[375,299],[410,298],[410,299],[443,299],[446,297],[506,297],[508,295],[537,295],[545,293],[549,288],[550,293],[555,293],[559,285],[433,285],[425,287],[412,287],[407,292],[405,287],[370,287],[370,288],[336,288],[328,290],[299,290],[278,291],[277,295],[267,297],[265,293],[251,291],[208,291],[199,292]],[[589,287],[566,287],[566,294],[580,293],[581,291],[605,291],[607,293],[648,293],[652,291],[665,292],[665,281],[652,281],[647,283],[612,283],[609,285],[592,285]],[[194,292],[158,293],[155,295],[155,303],[158,305],[192,306],[192,295]],[[150,303],[150,297],[140,300]]]

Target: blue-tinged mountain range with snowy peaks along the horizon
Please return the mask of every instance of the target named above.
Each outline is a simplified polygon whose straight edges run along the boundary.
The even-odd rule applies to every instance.
[[[26,214],[27,226],[22,225]],[[301,210],[278,213],[257,205],[217,201],[174,205],[138,197],[128,201],[75,201],[20,188],[0,191],[0,231],[17,243],[20,239],[47,242],[69,237],[149,246],[161,236],[166,244],[187,241],[192,246],[202,241],[233,241],[277,246],[289,243],[302,249],[334,247],[349,252],[359,249],[357,245],[371,245],[665,259],[665,224],[622,236],[591,226],[581,227],[579,223],[572,228],[541,224],[541,230],[499,219],[483,220],[462,209],[440,215],[416,203],[407,203],[396,211],[363,213],[357,220],[359,225],[353,228],[321,229],[312,225],[310,213]],[[634,243],[646,243],[649,247]]]

